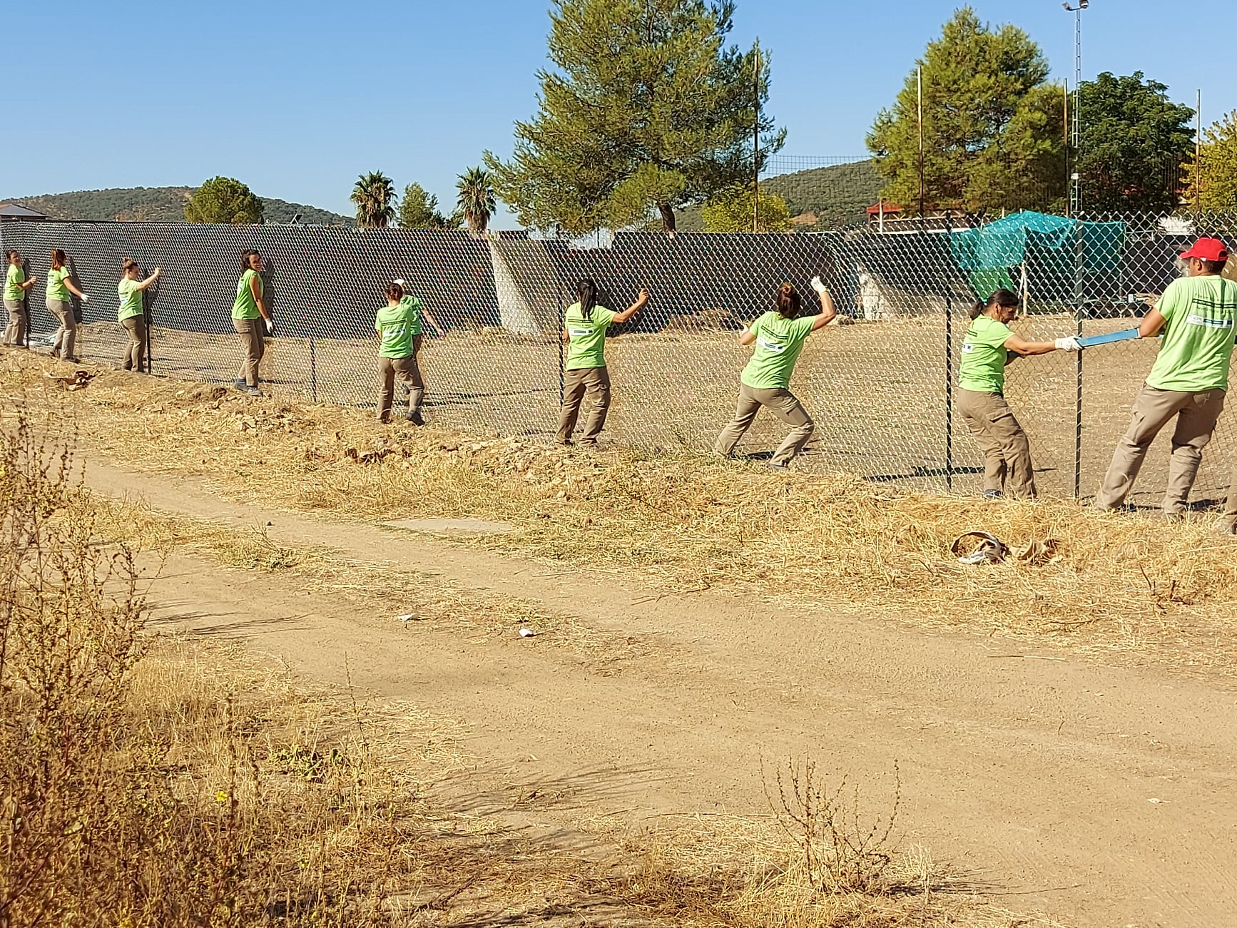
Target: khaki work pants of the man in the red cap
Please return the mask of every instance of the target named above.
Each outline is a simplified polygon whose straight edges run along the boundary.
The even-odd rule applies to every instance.
[[[1096,509],[1116,509],[1126,501],[1147,458],[1147,449],[1160,429],[1176,418],[1173,455],[1168,464],[1168,486],[1160,505],[1165,515],[1185,512],[1190,489],[1199,475],[1199,464],[1202,463],[1202,449],[1211,440],[1223,408],[1223,390],[1179,392],[1157,390],[1144,384],[1134,398],[1129,428],[1117,443],[1112,464],[1100,484],[1100,492],[1095,497]]]

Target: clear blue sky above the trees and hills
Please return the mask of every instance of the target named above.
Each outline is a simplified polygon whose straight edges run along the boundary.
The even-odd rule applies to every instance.
[[[863,152],[876,111],[949,19],[938,0],[738,0],[734,38],[773,56],[771,110],[785,155]],[[1072,77],[1060,0],[976,0]],[[108,2],[17,0],[0,35],[10,103],[0,195],[197,184],[238,177],[257,193],[336,212],[362,171],[417,181],[444,204],[485,148],[511,147],[536,110],[546,0]],[[1143,71],[1204,120],[1237,108],[1237,57],[1164,0],[1092,0],[1084,74]],[[14,93],[15,92],[15,93]],[[503,223],[510,225],[510,220]]]

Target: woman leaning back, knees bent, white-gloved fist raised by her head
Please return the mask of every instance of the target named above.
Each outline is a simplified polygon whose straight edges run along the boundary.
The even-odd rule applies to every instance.
[[[790,392],[790,374],[808,335],[823,329],[837,317],[834,298],[819,277],[811,278],[811,288],[820,298],[819,313],[800,316],[803,301],[798,291],[793,285],[783,283],[774,298],[776,308],[766,312],[738,335],[738,344],[755,344],[756,349],[738,377],[735,418],[717,436],[713,445],[714,454],[722,458],[732,457],[735,445],[756,419],[756,413],[762,406],[793,426],[790,434],[773,452],[768,468],[785,470],[811,438],[816,426],[803,408],[803,403]]]

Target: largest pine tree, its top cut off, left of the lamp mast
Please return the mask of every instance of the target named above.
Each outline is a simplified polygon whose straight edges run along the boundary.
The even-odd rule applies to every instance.
[[[752,176],[756,49],[726,47],[732,0],[554,0],[541,111],[515,155],[486,152],[501,198],[529,228],[586,234],[662,218]],[[758,87],[757,87],[758,83]],[[762,156],[784,132],[761,111]]]

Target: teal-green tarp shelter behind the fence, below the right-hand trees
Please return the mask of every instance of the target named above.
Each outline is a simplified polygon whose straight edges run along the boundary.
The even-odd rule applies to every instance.
[[[1009,271],[1025,267],[1028,288],[1038,298],[1070,299],[1077,273],[1121,270],[1124,243],[1124,223],[1084,223],[1024,212],[952,233],[949,247],[980,298],[999,287],[1018,290]]]

